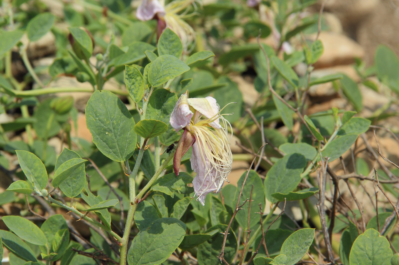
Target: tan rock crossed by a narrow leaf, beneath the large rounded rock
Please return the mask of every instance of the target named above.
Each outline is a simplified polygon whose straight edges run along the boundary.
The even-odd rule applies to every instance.
[[[351,65],[340,65],[329,68],[316,69],[312,72],[312,77],[320,78],[323,76],[328,76],[330,74],[337,74],[337,73],[346,74],[347,76],[352,78],[355,82],[359,82],[360,80],[358,73]],[[309,88],[308,93],[312,97],[325,97],[325,96],[334,95],[337,92],[334,90],[332,82],[328,82],[324,84],[311,86]]]

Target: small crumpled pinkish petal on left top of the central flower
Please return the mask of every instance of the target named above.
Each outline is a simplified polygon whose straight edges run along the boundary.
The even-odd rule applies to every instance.
[[[190,125],[193,115],[194,113],[190,110],[187,101],[187,94],[185,93],[181,95],[177,101],[172,114],[170,115],[169,123],[176,131],[179,131],[187,125]]]

